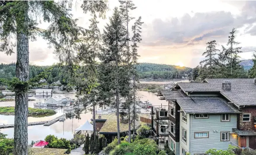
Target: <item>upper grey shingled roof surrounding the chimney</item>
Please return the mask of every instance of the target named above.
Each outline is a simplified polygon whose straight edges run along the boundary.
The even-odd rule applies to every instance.
[[[230,80],[231,90],[221,88],[224,80]],[[253,79],[206,79],[204,83],[178,83],[184,92],[220,92],[238,106],[256,106],[256,84]]]

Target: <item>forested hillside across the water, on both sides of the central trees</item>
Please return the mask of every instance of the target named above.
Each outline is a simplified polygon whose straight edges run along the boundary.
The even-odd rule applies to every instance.
[[[33,78],[44,69],[49,66],[29,66],[29,78]],[[139,79],[181,79],[187,77],[192,69],[188,67],[180,67],[174,65],[163,65],[155,63],[139,63],[136,65],[136,69],[139,74]],[[47,82],[52,83],[60,80],[62,83],[65,83],[69,78],[65,72],[62,71],[62,67],[55,66],[51,74],[49,74]],[[15,77],[15,63],[10,64],[0,64],[0,78],[12,79]],[[70,82],[72,80],[70,79]]]

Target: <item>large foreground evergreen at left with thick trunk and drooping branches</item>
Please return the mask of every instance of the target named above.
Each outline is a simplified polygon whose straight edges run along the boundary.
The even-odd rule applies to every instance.
[[[83,29],[71,18],[66,3],[0,1],[0,50],[8,55],[14,53],[15,43],[10,38],[14,35],[17,38],[16,82],[21,87],[15,88],[14,155],[28,155],[29,40],[36,40],[37,35],[42,36],[55,47],[61,62],[73,66],[73,51],[77,46],[75,42],[83,34]],[[83,1],[82,8],[85,13],[104,13],[107,5],[103,1]],[[37,27],[42,19],[52,23],[47,30]]]

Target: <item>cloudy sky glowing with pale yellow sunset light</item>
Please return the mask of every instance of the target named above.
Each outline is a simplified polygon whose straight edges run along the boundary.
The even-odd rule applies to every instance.
[[[139,44],[138,62],[195,67],[204,60],[206,43],[216,40],[217,48],[226,46],[228,33],[236,28],[236,41],[240,42],[241,59],[251,59],[256,50],[256,1],[185,1],[185,0],[135,0],[137,7],[130,16],[142,16],[142,42]],[[80,1],[71,13],[78,25],[87,28],[90,15],[83,13]],[[108,1],[106,19],[99,19],[103,32],[117,0]],[[134,21],[131,21],[134,23]],[[39,27],[46,29],[48,23]],[[131,29],[131,28],[130,28]],[[49,49],[42,38],[29,43],[29,60],[35,65],[58,63],[58,56]],[[7,56],[0,52],[0,63],[16,61],[16,53]]]

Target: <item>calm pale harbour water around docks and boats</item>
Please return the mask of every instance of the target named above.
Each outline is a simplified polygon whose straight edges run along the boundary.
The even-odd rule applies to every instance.
[[[159,83],[163,82],[161,84],[166,84],[165,81],[149,81],[143,83]],[[170,81],[169,81],[170,82]],[[173,82],[181,82],[181,81],[173,81]],[[151,102],[154,106],[160,106],[161,104],[167,105],[167,102],[165,100],[159,100],[159,97],[156,96],[156,93],[152,92],[138,92],[139,98],[141,101],[149,101]],[[53,94],[53,95],[58,95],[58,94]],[[75,99],[75,94],[66,94],[66,96],[71,97],[72,99]],[[30,97],[30,99],[35,99],[35,97]],[[43,100],[43,99],[42,99]],[[33,103],[36,101],[29,101],[28,106],[29,107],[34,107]],[[0,102],[0,106],[14,106],[14,102]],[[57,112],[55,115],[52,116],[47,116],[47,117],[41,117],[41,118],[36,118],[36,117],[28,117],[28,122],[39,122],[39,121],[48,121],[51,119],[55,119],[59,115],[63,114],[63,109],[58,108],[55,109]],[[43,126],[43,125],[34,125],[34,126],[28,126],[28,143],[30,144],[31,141],[38,141],[38,140],[43,140],[47,135],[55,135],[58,138],[66,138],[66,139],[72,139],[74,130],[78,128],[80,125],[83,125],[86,120],[92,118],[92,113],[87,112],[86,114],[82,113],[81,114],[81,119],[66,119],[64,122],[56,122],[50,126]],[[14,115],[0,115],[0,125],[3,124],[14,124]],[[7,138],[13,138],[14,135],[14,128],[7,128],[7,129],[0,129],[0,132],[7,134]]]

